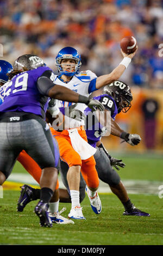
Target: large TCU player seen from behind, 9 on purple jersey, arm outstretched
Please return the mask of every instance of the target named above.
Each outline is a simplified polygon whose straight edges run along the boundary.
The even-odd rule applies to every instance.
[[[41,196],[35,207],[42,227],[52,227],[47,210],[57,184],[60,157],[58,144],[43,120],[49,97],[86,103],[92,110],[104,109],[99,101],[55,85],[53,77],[52,70],[38,56],[18,57],[0,106],[0,185],[10,175],[18,155],[25,150],[42,169]]]

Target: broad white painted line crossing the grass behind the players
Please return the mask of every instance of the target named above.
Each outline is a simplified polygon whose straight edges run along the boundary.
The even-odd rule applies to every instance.
[[[21,182],[23,184],[38,185],[34,178],[27,174],[12,173],[8,181]],[[163,185],[163,181],[148,181],[148,180],[122,180],[126,190],[130,194],[155,194],[159,193],[159,186]],[[65,188],[59,176],[59,187]],[[99,181],[99,193],[112,193],[108,184],[103,181]]]

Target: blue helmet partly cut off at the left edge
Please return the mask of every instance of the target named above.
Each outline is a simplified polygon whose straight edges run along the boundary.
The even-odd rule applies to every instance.
[[[0,83],[6,83],[9,80],[8,73],[12,71],[12,65],[6,60],[0,60]]]

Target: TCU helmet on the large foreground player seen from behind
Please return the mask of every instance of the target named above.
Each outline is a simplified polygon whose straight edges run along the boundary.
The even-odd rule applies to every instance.
[[[14,70],[24,71],[24,69],[37,69],[40,66],[45,66],[43,60],[33,54],[24,54],[18,57],[14,62]]]

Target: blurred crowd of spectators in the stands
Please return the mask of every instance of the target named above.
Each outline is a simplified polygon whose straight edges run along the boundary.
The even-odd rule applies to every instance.
[[[122,59],[120,40],[127,35],[135,36],[139,51],[122,80],[163,88],[163,1],[0,0],[0,42],[11,63],[35,53],[57,72],[57,52],[72,46],[82,54],[82,70],[108,74]]]

